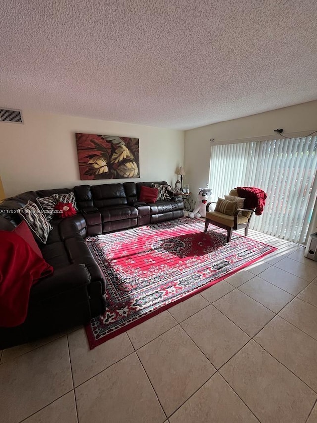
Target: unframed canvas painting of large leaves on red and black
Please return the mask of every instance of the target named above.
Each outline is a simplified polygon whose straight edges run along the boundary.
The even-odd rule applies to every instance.
[[[140,178],[139,138],[76,133],[80,179]]]

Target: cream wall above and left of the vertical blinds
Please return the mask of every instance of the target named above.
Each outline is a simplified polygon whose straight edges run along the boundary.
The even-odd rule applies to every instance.
[[[186,131],[184,183],[188,183],[191,191],[195,193],[208,183],[210,138],[214,138],[214,143],[258,137],[269,139],[274,136],[274,129],[277,128],[283,128],[286,134],[317,130],[317,101]]]

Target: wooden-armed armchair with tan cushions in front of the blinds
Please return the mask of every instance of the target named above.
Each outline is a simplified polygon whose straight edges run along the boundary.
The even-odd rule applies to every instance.
[[[229,196],[239,197],[236,189],[231,189]],[[226,201],[226,200],[224,200]],[[231,240],[232,231],[244,228],[244,235],[248,235],[248,228],[251,217],[254,213],[254,209],[245,209],[238,206],[234,201],[224,202],[211,202],[206,205],[206,221],[205,221],[205,232],[208,229],[208,225],[218,226],[219,228],[226,229],[228,231],[227,242]],[[215,211],[210,211],[211,204],[216,204]]]

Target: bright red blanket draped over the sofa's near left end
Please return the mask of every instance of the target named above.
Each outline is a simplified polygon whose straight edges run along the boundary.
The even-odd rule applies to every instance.
[[[30,289],[53,272],[19,235],[0,231],[0,326],[18,326],[26,319]]]

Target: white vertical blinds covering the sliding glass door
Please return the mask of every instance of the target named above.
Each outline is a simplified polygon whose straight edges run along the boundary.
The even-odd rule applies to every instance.
[[[305,244],[317,192],[317,136],[213,145],[209,186],[215,201],[237,186],[267,193],[250,227]]]

